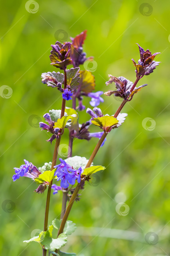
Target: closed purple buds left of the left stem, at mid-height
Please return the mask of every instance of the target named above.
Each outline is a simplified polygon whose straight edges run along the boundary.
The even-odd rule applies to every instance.
[[[59,138],[59,134],[60,134],[60,132],[59,132],[59,128],[54,128],[54,121],[52,121],[51,120],[51,117],[50,117],[50,114],[49,113],[46,113],[46,114],[44,114],[44,116],[43,116],[44,118],[45,118],[45,120],[48,122],[48,124],[45,124],[45,123],[43,123],[43,122],[40,122],[39,123],[39,126],[40,126],[40,128],[42,128],[41,129],[41,131],[42,130],[47,130],[47,132],[51,132],[53,135],[51,136],[51,138],[49,139],[49,140],[47,140],[48,142],[50,142],[51,144],[52,144],[52,141],[54,140],[54,139],[58,139]]]

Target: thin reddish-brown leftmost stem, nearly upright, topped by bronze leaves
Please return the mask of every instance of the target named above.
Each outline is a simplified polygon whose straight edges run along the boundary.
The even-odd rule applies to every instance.
[[[66,88],[67,88],[67,72],[66,72],[66,68],[65,68],[64,69],[64,89],[66,89]],[[62,100],[62,109],[61,109],[60,118],[62,118],[64,116],[65,107],[66,107],[66,100],[63,99]],[[56,161],[57,161],[57,157],[58,157],[58,147],[60,145],[60,140],[61,140],[61,135],[59,135],[59,138],[56,139],[56,142],[55,142],[55,148],[54,148],[54,154],[53,154],[53,158],[52,158],[51,171],[54,169],[54,166],[56,165]],[[47,231],[47,229],[48,229],[48,213],[49,213],[49,206],[50,206],[52,181],[50,182],[50,184],[48,186],[48,192],[47,192],[46,210],[45,210],[45,217],[44,217],[44,231]],[[46,256],[46,254],[47,254],[47,250],[43,248],[43,256]]]

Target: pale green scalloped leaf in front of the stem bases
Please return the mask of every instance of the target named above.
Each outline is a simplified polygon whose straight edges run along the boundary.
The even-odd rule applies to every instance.
[[[63,233],[60,234],[56,239],[46,234],[44,240],[41,242],[41,244],[44,245],[46,250],[49,249],[52,252],[55,251],[55,249],[60,249],[66,243],[67,243],[67,236]]]

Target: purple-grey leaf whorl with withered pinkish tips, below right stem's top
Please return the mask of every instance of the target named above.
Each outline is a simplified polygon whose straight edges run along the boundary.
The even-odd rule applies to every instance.
[[[116,97],[120,97],[127,100],[131,96],[131,89],[133,87],[133,82],[130,82],[128,79],[124,78],[123,76],[119,76],[118,78],[112,75],[108,75],[108,76],[110,77],[110,79],[106,82],[106,85],[114,82],[117,90],[116,91],[108,90],[106,91],[106,93],[104,93],[104,95],[110,96],[114,94]],[[146,85],[147,84],[143,84],[138,88],[134,87],[133,92],[135,92],[135,90],[141,89]]]

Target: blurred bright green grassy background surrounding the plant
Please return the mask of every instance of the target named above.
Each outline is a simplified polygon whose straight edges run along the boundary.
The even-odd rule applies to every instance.
[[[94,176],[91,185],[82,191],[80,202],[74,204],[69,219],[76,222],[78,229],[68,238],[63,251],[79,256],[169,255],[170,3],[147,0],[144,6],[141,0],[32,2],[26,8],[26,1],[1,3],[0,254],[41,255],[37,243],[22,241],[28,240],[35,229],[43,229],[47,191],[37,195],[33,192],[37,185],[27,178],[13,182],[13,167],[19,167],[25,158],[37,167],[52,160],[54,143],[51,146],[46,142],[49,136],[40,131],[37,123],[43,121],[48,110],[61,108],[61,96],[41,83],[41,73],[59,71],[49,59],[50,45],[62,40],[59,30],[65,31],[64,39],[69,41],[87,29],[84,51],[97,63],[93,72],[96,91],[114,88],[106,88],[108,74],[134,82],[131,59],[139,59],[137,42],[152,53],[161,52],[155,60],[162,63],[139,82],[148,86],[124,107],[126,121],[108,135],[96,156],[94,164],[107,169]],[[105,95],[103,98],[100,108],[104,114],[114,114],[121,101]],[[71,106],[71,102],[67,103]],[[88,98],[83,103],[90,107]],[[79,113],[80,123],[88,119],[85,111]],[[100,130],[91,127],[91,131]],[[68,131],[64,133],[61,155],[66,154],[64,146],[68,145]],[[89,158],[96,142],[95,138],[90,142],[75,140],[73,155]],[[61,194],[51,197],[49,223],[59,216],[61,200]],[[124,208],[119,207],[120,202],[125,203]],[[148,232],[155,234],[150,236]]]

